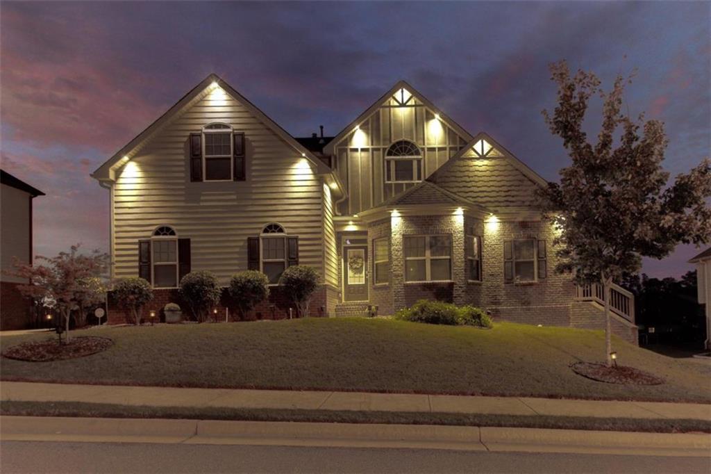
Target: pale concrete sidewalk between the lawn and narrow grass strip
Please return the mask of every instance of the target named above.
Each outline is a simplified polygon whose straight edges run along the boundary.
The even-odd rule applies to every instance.
[[[193,408],[415,411],[456,414],[688,418],[711,421],[711,404],[597,401],[502,396],[373,394],[343,391],[178,389],[153,386],[3,381],[2,401],[80,401]]]

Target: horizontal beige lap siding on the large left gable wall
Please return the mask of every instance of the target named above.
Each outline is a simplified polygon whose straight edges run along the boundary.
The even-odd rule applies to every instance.
[[[190,181],[188,136],[210,122],[245,132],[247,181]],[[299,236],[299,263],[321,272],[323,190],[312,167],[223,90],[205,95],[117,172],[115,275],[137,275],[137,241],[167,225],[191,238],[192,270],[213,271],[226,283],[247,268],[247,237],[270,222]]]

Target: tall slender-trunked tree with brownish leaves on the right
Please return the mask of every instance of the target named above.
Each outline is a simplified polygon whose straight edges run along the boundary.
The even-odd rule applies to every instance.
[[[668,184],[662,168],[668,144],[663,122],[633,120],[621,112],[624,87],[618,76],[604,92],[593,73],[571,75],[565,61],[550,66],[557,106],[544,110],[553,135],[572,160],[560,184],[541,193],[548,218],[560,230],[558,272],[572,271],[577,283],[600,283],[605,295],[605,347],[611,365],[610,286],[636,273],[642,257],[664,258],[678,243],[706,243],[711,236],[711,162],[704,159]],[[593,143],[583,130],[589,102],[603,102],[602,127]],[[619,132],[619,138],[616,133]]]

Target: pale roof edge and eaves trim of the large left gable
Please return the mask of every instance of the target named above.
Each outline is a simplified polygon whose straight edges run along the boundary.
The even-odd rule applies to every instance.
[[[178,117],[181,112],[190,107],[190,105],[193,105],[193,103],[197,102],[207,93],[209,93],[210,90],[213,89],[214,85],[218,85],[218,87],[225,90],[228,95],[230,95],[233,99],[237,100],[237,102],[240,102],[242,105],[244,105],[247,110],[252,113],[252,115],[257,117],[257,120],[260,120],[260,122],[266,125],[270,130],[272,130],[272,132],[281,137],[284,142],[290,144],[292,147],[294,147],[294,149],[296,149],[297,152],[300,152],[302,156],[306,157],[307,159],[309,159],[309,161],[315,164],[318,174],[331,173],[331,169],[328,168],[326,164],[321,162],[320,159],[314,156],[314,154],[309,149],[306,149],[306,147],[297,142],[296,139],[292,137],[292,135],[289,135],[289,133],[282,127],[277,125],[274,120],[267,117],[267,115],[264,114],[262,110],[260,110],[257,106],[252,104],[252,102],[247,100],[244,96],[242,96],[235,89],[233,89],[232,86],[226,83],[222,78],[220,78],[220,76],[213,73],[203,79],[201,83],[196,85],[186,95],[183,95],[183,97],[178,100],[178,102],[176,102],[173,107],[169,108],[169,110],[167,110],[163,115],[161,115],[155,122],[149,125],[146,130],[139,133],[137,137],[132,139],[122,149],[119,149],[118,152],[116,152],[104,164],[98,167],[96,171],[91,174],[91,176],[100,181],[113,181],[114,169],[117,169],[118,167],[121,167],[126,164],[126,162],[128,162],[139,149],[143,148],[146,143],[151,140],[151,138],[153,138],[160,130],[166,127],[166,125],[172,122],[173,119]]]

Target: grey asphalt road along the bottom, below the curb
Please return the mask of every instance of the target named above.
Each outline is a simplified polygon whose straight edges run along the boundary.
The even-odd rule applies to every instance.
[[[7,473],[710,473],[711,458],[6,441]]]

